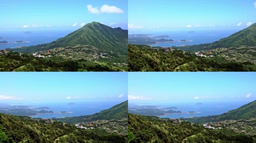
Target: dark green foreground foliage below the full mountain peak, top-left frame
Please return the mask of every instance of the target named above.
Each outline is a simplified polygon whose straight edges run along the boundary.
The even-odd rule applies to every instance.
[[[58,56],[37,58],[30,54],[9,52],[0,55],[0,71],[123,71],[122,69],[101,62],[63,59]]]

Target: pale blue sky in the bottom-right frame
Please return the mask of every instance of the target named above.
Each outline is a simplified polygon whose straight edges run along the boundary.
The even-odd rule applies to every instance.
[[[255,72],[129,72],[129,103],[256,100]]]

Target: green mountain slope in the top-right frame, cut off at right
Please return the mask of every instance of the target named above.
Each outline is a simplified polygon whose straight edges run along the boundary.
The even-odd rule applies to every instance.
[[[201,51],[201,50],[211,50],[216,48],[239,47],[241,45],[252,46],[252,47],[256,46],[256,23],[226,38],[222,38],[219,41],[208,43],[208,44],[191,45],[191,46],[187,45],[184,47],[179,47],[179,49],[185,50],[185,51]]]

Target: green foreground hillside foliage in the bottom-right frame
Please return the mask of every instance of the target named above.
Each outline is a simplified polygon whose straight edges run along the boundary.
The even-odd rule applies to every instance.
[[[128,114],[129,143],[254,143],[255,137],[229,129],[209,130],[188,121]]]

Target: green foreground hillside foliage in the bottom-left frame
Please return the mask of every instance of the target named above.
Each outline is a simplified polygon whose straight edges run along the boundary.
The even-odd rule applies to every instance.
[[[0,141],[3,143],[124,143],[127,137],[102,128],[81,130],[60,121],[34,121],[30,117],[0,113]]]

